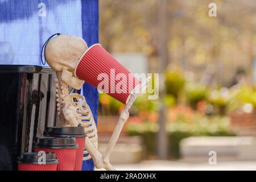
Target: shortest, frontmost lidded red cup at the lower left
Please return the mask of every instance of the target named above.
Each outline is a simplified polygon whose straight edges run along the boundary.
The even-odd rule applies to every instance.
[[[46,163],[39,164],[39,158],[42,155],[38,155],[36,152],[23,153],[18,158],[18,170],[19,171],[57,171],[57,165],[59,160],[54,153],[46,153]],[[40,160],[41,161],[41,160]]]

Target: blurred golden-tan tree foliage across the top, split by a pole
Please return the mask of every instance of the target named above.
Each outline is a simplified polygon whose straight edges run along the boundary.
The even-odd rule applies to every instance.
[[[100,1],[102,45],[110,52],[139,51],[158,56],[157,2]],[[249,75],[251,72],[256,56],[256,4],[254,0],[216,0],[217,17],[210,17],[211,2],[167,1],[169,60],[195,72],[196,79],[212,64],[216,80],[212,83],[230,85],[238,67]]]

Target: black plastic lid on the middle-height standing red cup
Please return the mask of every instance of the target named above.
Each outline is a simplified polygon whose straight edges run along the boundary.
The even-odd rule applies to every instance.
[[[77,143],[73,137],[38,137],[35,147],[45,148],[76,148]]]

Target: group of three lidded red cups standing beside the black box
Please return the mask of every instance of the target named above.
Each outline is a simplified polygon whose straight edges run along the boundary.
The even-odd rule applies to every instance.
[[[19,171],[81,171],[85,147],[84,127],[47,127],[38,137],[35,152],[18,158]],[[46,155],[43,160],[40,156]]]

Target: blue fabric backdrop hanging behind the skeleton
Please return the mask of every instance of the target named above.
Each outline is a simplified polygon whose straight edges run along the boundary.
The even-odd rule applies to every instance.
[[[42,46],[57,32],[98,43],[98,0],[0,0],[0,64],[42,65]],[[82,93],[97,122],[97,89],[84,84]],[[92,159],[82,169],[93,170]]]

